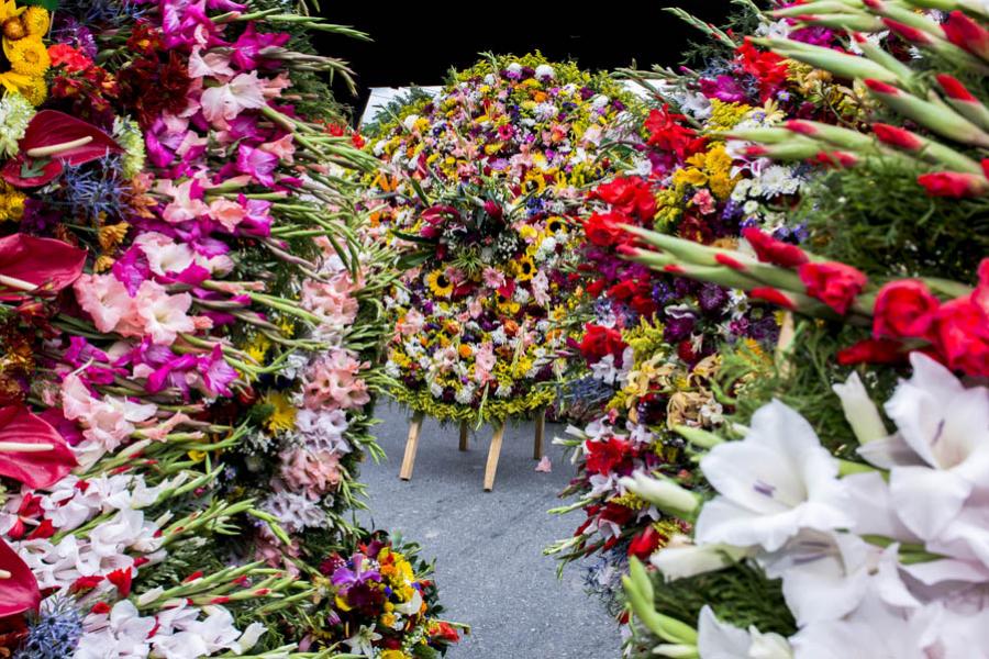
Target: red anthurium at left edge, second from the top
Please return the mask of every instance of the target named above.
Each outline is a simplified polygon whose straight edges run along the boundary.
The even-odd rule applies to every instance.
[[[60,291],[79,278],[85,263],[85,250],[62,241],[24,234],[0,238],[0,300]]]

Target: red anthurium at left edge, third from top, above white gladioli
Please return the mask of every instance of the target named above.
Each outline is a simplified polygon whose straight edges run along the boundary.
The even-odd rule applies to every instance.
[[[47,488],[75,466],[73,449],[46,421],[21,405],[0,407],[0,476]]]

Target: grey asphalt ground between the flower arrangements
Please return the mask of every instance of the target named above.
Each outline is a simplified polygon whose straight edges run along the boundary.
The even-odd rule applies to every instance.
[[[473,433],[457,450],[458,429],[426,420],[411,481],[398,477],[409,416],[381,401],[377,437],[388,454],[363,466],[370,512],[365,521],[398,529],[436,559],[435,579],[445,616],[473,633],[449,659],[618,659],[621,641],[603,604],[584,590],[584,570],[571,563],[562,579],[556,560],[542,555],[568,537],[579,512],[548,515],[574,467],[552,446],[563,426],[546,424],[552,473],[535,471],[533,425],[509,426],[492,492],[481,487],[492,428]]]

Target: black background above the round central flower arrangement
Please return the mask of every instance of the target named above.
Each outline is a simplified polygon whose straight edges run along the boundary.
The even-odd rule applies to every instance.
[[[721,23],[729,0],[657,0],[656,2],[369,2],[323,0],[322,15],[368,33],[374,42],[321,35],[322,54],[349,62],[359,97],[335,85],[336,97],[363,109],[370,87],[438,85],[451,67],[466,68],[478,54],[522,55],[541,51],[553,60],[576,59],[590,70],[652,64],[675,65],[689,41],[703,35],[668,14],[682,7],[693,15]]]

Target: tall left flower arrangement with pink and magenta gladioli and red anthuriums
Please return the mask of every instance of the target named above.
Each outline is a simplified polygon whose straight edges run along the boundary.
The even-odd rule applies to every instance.
[[[368,159],[310,120],[347,71],[278,8],[2,12],[0,647],[444,651],[416,548],[345,517],[379,282],[336,183]]]

